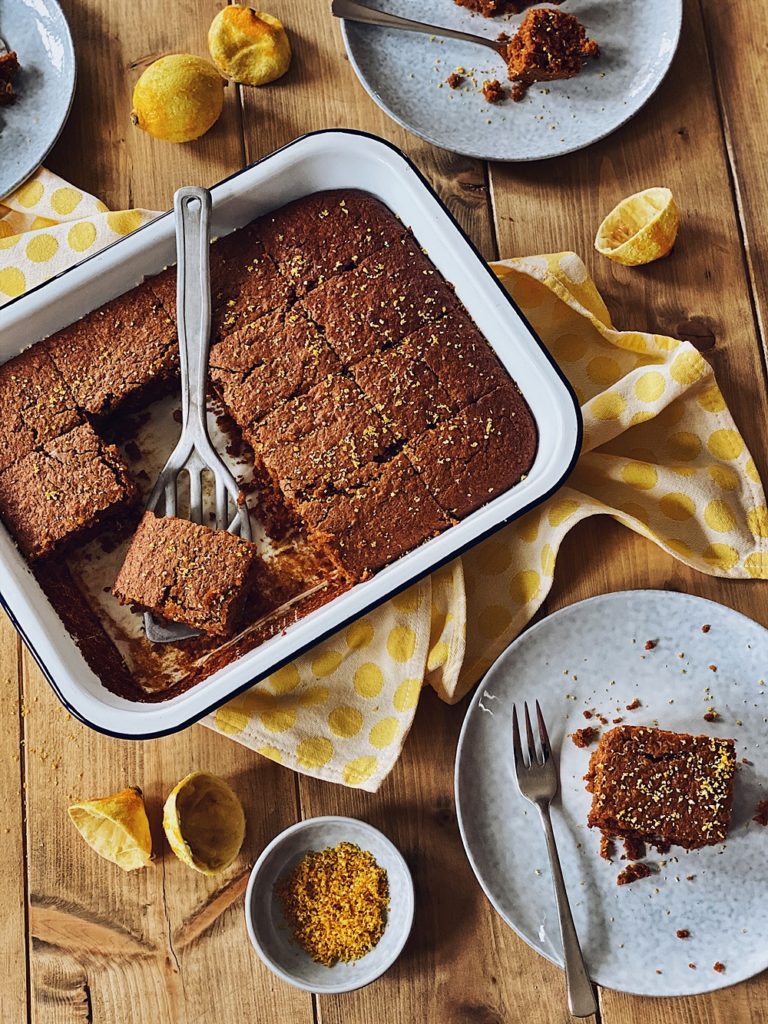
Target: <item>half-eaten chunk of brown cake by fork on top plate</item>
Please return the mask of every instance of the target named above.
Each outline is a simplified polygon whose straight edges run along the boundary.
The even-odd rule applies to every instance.
[[[522,99],[534,82],[572,78],[600,49],[572,14],[551,7],[529,10],[507,46],[507,75],[516,82],[512,98]]]

